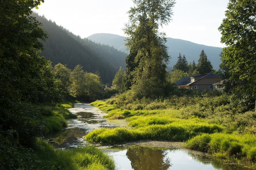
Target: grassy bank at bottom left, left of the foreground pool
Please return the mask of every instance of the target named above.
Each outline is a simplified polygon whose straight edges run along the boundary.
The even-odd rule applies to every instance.
[[[56,150],[51,144],[38,140],[34,152],[43,166],[61,170],[114,170],[113,159],[94,147]]]

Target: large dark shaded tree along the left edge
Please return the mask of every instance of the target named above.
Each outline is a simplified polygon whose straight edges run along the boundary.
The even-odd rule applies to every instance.
[[[0,124],[2,130],[13,130],[20,144],[35,141],[44,124],[31,103],[47,87],[40,70],[47,63],[38,55],[47,33],[36,18],[29,16],[43,0],[0,1]]]

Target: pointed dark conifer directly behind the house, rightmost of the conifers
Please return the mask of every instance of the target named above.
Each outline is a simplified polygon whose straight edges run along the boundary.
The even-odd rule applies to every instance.
[[[206,74],[213,71],[212,64],[210,60],[207,59],[207,55],[204,53],[204,50],[201,51],[198,64],[196,67],[199,74]]]

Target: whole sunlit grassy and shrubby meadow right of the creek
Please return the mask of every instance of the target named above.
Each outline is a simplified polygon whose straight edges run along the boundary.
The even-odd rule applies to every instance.
[[[130,100],[123,93],[91,105],[125,120],[127,127],[96,129],[90,142],[119,143],[143,139],[184,142],[184,147],[256,167],[256,113],[218,91]]]

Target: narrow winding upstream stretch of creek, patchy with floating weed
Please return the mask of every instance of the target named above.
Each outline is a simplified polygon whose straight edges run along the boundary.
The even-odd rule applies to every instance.
[[[52,143],[55,148],[74,148],[85,146],[84,136],[93,129],[100,127],[116,127],[107,123],[103,114],[96,107],[87,103],[75,104],[74,108],[69,109],[70,112],[77,115],[77,119],[69,119],[68,127],[58,133],[48,134],[44,139]]]

